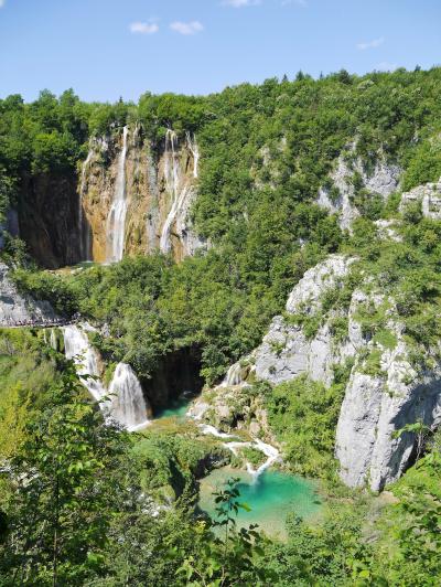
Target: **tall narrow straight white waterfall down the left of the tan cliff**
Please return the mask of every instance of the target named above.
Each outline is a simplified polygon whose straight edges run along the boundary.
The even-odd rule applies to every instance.
[[[122,130],[122,149],[118,160],[118,172],[115,182],[114,203],[107,218],[107,263],[122,259],[125,245],[125,228],[127,215],[126,200],[126,156],[127,156],[127,126]]]

